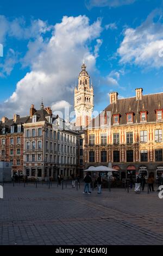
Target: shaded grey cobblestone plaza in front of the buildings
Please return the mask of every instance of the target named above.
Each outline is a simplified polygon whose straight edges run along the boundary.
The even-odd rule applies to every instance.
[[[82,192],[83,185],[5,184],[0,245],[163,245],[158,192]]]

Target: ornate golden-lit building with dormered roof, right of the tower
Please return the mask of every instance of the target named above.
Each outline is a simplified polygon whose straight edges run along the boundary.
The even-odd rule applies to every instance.
[[[163,173],[163,93],[118,99],[110,93],[104,116],[93,119],[85,132],[84,167],[108,166],[119,170],[118,179],[143,172]],[[108,115],[109,113],[109,115]],[[108,126],[107,116],[111,117]],[[104,119],[104,124],[103,123]],[[107,124],[106,124],[107,123]]]

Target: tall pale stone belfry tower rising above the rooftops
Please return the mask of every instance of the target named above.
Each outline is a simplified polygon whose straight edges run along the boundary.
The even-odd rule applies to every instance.
[[[78,88],[74,89],[74,110],[76,112],[76,126],[86,126],[91,120],[93,111],[93,86],[90,86],[90,76],[83,63],[78,77]]]

